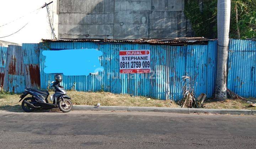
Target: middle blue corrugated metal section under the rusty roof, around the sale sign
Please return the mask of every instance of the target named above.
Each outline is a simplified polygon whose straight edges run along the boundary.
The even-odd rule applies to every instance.
[[[43,42],[40,44],[41,88],[46,89],[54,74],[43,72],[43,50],[50,49],[98,49],[104,72],[89,76],[64,76],[62,85],[80,91],[97,91],[151,96],[159,99],[178,100],[182,97],[181,77],[188,72],[198,82],[196,95],[212,96],[215,79],[216,41],[206,45],[171,46],[150,44],[102,43],[102,42]],[[149,49],[153,73],[120,74],[119,51]]]

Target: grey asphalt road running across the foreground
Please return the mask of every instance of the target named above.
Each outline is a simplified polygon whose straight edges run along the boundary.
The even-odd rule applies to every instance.
[[[0,111],[0,148],[255,148],[255,115]]]

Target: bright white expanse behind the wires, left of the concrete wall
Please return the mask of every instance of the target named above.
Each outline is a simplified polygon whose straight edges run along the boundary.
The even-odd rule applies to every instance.
[[[50,39],[51,29],[49,26],[48,16],[46,7],[30,13],[42,5],[45,2],[52,0],[3,0],[0,5],[0,37],[10,35],[26,23],[28,23],[19,32],[5,38],[0,38],[7,42],[14,43],[39,43],[41,39]],[[49,5],[50,6],[50,5]],[[50,12],[51,14],[51,12]],[[22,17],[25,16],[25,17]],[[18,20],[17,18],[22,17]],[[16,21],[14,21],[16,20]],[[5,26],[2,26],[10,21]]]

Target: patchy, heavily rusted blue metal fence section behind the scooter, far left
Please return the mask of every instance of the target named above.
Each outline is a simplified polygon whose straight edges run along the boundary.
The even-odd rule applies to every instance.
[[[40,88],[39,44],[0,47],[0,87],[13,93]]]

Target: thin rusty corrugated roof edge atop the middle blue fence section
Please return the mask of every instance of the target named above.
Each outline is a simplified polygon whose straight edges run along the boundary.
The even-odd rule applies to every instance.
[[[209,40],[203,37],[193,38],[143,38],[143,39],[42,39],[43,42],[108,42],[108,43],[133,43],[133,44],[164,44],[164,45],[185,45],[185,44],[207,44]]]

